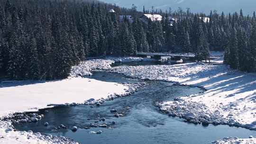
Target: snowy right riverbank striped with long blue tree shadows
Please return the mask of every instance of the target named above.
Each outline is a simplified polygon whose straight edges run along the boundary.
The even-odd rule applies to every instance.
[[[111,72],[145,80],[175,81],[200,86],[206,92],[160,104],[162,111],[193,122],[228,124],[256,129],[256,76],[231,71],[226,65],[120,66]]]

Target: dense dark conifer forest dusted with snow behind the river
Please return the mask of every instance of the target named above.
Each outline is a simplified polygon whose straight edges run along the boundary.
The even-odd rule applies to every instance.
[[[94,0],[0,0],[0,76],[62,79],[87,57],[183,52],[207,60],[210,50],[224,51],[224,63],[231,68],[256,71],[255,13],[144,13],[163,19],[145,23],[134,5],[125,9]],[[130,23],[125,17],[120,22],[119,15],[134,20]],[[169,17],[176,19],[173,25]]]

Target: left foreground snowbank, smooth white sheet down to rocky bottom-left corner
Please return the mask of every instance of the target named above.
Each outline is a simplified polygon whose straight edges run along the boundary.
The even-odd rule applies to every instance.
[[[37,111],[65,103],[84,103],[87,99],[107,99],[111,94],[126,94],[128,86],[87,78],[25,84],[14,82],[0,88],[0,117],[14,112]],[[14,85],[14,86],[10,86]],[[101,90],[99,90],[99,88]],[[14,131],[10,122],[0,120],[0,144],[75,144],[64,137]]]

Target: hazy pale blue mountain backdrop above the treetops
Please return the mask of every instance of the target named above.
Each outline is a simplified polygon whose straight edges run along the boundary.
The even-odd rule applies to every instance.
[[[219,13],[233,13],[243,9],[244,14],[252,14],[256,11],[256,0],[101,0],[107,3],[116,4],[121,7],[131,8],[132,4],[142,10],[143,6],[146,9],[151,9],[154,6],[156,9],[177,9],[178,7],[190,8],[192,12],[210,13],[210,10],[217,10]]]

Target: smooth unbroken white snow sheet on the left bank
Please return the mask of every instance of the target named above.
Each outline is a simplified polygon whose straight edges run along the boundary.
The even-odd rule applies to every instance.
[[[124,89],[128,88],[121,84],[88,78],[4,87],[0,88],[0,116],[13,112],[35,111],[46,108],[49,104],[83,103],[91,98],[107,98],[113,93],[125,93]]]

